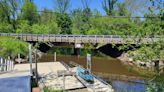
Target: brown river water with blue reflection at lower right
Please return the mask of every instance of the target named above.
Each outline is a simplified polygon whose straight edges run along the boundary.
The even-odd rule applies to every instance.
[[[46,54],[40,59],[40,62],[50,61],[54,61],[54,57],[52,54]],[[77,57],[71,55],[59,55],[57,56],[57,61],[63,61],[67,64],[69,64],[70,61],[73,61],[84,67],[86,66],[86,58],[82,56]],[[137,77],[140,76],[137,72],[129,71],[129,69],[126,66],[124,66],[118,59],[104,57],[92,57],[92,72]],[[143,80],[135,81],[143,82]],[[147,89],[147,86],[141,83],[120,80],[113,80],[109,83],[113,86],[116,92],[146,92]]]

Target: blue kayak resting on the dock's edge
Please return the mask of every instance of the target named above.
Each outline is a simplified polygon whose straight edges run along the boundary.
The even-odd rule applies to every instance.
[[[83,78],[84,80],[86,80],[89,83],[94,82],[93,76],[86,69],[83,69],[81,67],[77,67],[76,74],[79,75],[81,78]]]

